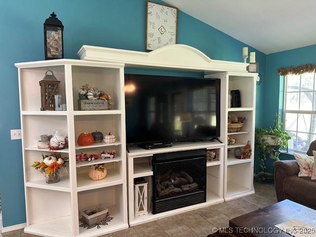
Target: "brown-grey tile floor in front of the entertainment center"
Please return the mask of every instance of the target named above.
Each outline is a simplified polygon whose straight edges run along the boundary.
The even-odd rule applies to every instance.
[[[273,183],[255,183],[256,194],[145,223],[103,237],[206,237],[212,228],[228,227],[231,218],[276,202]],[[0,234],[1,237],[1,234]],[[2,237],[36,237],[22,230]]]

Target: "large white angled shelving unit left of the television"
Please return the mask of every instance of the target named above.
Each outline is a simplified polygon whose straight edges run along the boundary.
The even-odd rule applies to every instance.
[[[49,60],[17,63],[21,105],[21,128],[25,179],[27,226],[25,232],[46,237],[96,237],[128,228],[125,103],[123,64],[83,60]],[[59,94],[67,111],[40,111],[39,81],[47,69],[60,80]],[[114,100],[113,110],[79,111],[78,91],[85,83],[109,93]],[[69,156],[68,172],[60,182],[46,184],[40,172],[31,167],[49,149],[38,149],[42,134],[61,130],[68,134],[69,148],[56,151]],[[95,143],[79,146],[77,138],[84,131],[111,132],[117,137],[112,144]],[[76,163],[76,154],[100,156],[103,150],[116,150],[114,159],[95,159]],[[91,164],[105,163],[107,176],[100,181],[88,177]],[[92,229],[79,228],[80,210],[103,203],[114,219],[108,225]]]

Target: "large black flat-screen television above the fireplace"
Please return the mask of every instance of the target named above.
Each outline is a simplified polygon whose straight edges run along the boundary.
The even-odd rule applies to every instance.
[[[220,136],[220,79],[125,74],[127,144]]]

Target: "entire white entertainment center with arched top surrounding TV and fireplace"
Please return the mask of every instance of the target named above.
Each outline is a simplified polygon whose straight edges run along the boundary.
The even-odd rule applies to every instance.
[[[20,90],[21,129],[23,146],[24,181],[27,226],[25,232],[47,237],[96,237],[123,230],[176,213],[247,196],[254,193],[254,126],[255,96],[258,74],[248,73],[246,63],[212,60],[188,45],[175,44],[151,52],[83,45],[78,52],[80,60],[58,59],[38,62],[17,63]],[[67,111],[40,111],[39,81],[45,72],[52,70],[60,83],[60,94]],[[203,73],[205,78],[221,79],[221,136],[223,142],[174,143],[170,148],[145,150],[129,148],[126,152],[124,69],[149,69],[172,72]],[[114,108],[102,111],[79,111],[78,90],[82,84],[107,88],[113,96]],[[228,93],[239,90],[241,107],[229,108]],[[229,115],[246,117],[240,132],[228,133]],[[48,149],[38,149],[41,134],[61,129],[68,134],[69,148],[57,152],[69,156],[69,172],[61,181],[46,184],[42,175],[31,167]],[[113,131],[117,141],[112,144],[95,143],[78,146],[77,138],[84,131]],[[237,137],[237,143],[228,145],[229,135]],[[250,159],[228,158],[228,150],[244,147],[250,141]],[[101,152],[116,149],[118,156],[104,163],[108,169],[105,179],[90,180],[87,168],[91,163],[76,163],[76,153]],[[176,210],[152,214],[134,215],[134,179],[144,177],[151,188],[153,171],[150,163],[155,154],[168,152],[217,149],[218,159],[206,163],[206,202]],[[149,190],[150,197],[150,190]],[[148,198],[150,199],[150,198]],[[50,212],[42,211],[50,200],[58,200]],[[148,200],[149,202],[150,200]],[[114,219],[101,228],[79,227],[79,210],[86,206],[105,203]]]

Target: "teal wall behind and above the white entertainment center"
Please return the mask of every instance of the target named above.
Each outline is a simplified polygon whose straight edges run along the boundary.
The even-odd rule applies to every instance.
[[[78,58],[82,44],[144,51],[145,0],[10,0],[0,6],[0,192],[3,226],[25,222],[21,141],[9,129],[20,128],[16,62],[43,60],[43,22],[51,11],[63,22],[65,58]],[[212,59],[241,62],[244,43],[179,12],[178,43]],[[256,51],[263,83],[257,86],[257,126],[264,123],[266,55]]]

